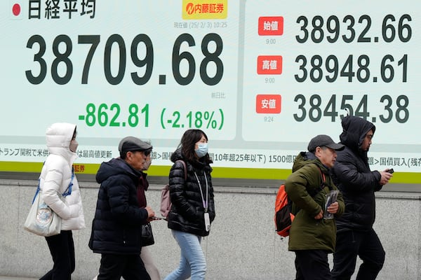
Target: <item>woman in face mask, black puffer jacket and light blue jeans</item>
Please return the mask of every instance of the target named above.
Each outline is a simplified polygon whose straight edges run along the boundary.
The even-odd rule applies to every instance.
[[[187,180],[185,167],[187,166]],[[208,137],[201,130],[187,130],[180,145],[171,155],[174,162],[169,176],[172,207],[168,214],[168,228],[181,249],[178,268],[165,280],[205,279],[206,260],[200,242],[209,235],[215,218],[213,187],[208,154]],[[178,161],[178,162],[177,162]]]

